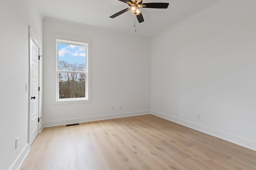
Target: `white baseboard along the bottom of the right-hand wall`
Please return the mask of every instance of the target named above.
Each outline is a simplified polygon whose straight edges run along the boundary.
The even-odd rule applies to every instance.
[[[156,115],[158,117],[162,117],[162,118],[167,119],[169,121],[173,121],[173,122],[178,123],[180,125],[184,125],[186,127],[190,127],[192,129],[196,129],[198,131],[207,133],[209,135],[212,135],[212,136],[224,139],[226,141],[235,143],[237,145],[240,145],[240,146],[252,149],[252,150],[256,150],[256,142],[254,142],[254,141],[250,141],[248,139],[244,139],[244,138],[237,137],[237,136],[234,136],[234,135],[222,132],[222,131],[218,131],[218,130],[212,129],[210,127],[198,125],[196,123],[193,123],[193,122],[190,122],[190,121],[186,121],[186,120],[183,120],[183,119],[179,119],[177,117],[172,117],[172,116],[166,115],[164,113],[159,113],[157,111],[151,111],[151,114],[152,115]]]

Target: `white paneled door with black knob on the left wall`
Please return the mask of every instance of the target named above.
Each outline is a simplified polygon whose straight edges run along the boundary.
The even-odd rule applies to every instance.
[[[30,145],[38,135],[39,47],[30,39]]]

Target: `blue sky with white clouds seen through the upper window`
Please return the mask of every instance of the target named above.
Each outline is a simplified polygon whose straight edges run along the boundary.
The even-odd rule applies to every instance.
[[[58,43],[59,61],[64,60],[68,63],[86,63],[86,47]]]

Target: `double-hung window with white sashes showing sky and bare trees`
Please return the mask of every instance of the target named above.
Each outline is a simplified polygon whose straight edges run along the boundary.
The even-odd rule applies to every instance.
[[[88,100],[88,43],[56,39],[56,101]]]

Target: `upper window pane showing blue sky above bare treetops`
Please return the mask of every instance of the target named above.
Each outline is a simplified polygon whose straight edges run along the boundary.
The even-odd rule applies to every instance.
[[[58,70],[85,71],[86,46],[58,43]]]

